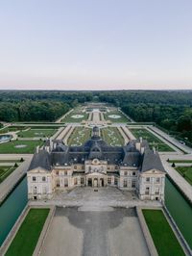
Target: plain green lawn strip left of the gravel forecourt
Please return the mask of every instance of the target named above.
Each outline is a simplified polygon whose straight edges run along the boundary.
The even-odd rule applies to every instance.
[[[36,248],[49,209],[31,209],[13,239],[6,256],[30,256]]]

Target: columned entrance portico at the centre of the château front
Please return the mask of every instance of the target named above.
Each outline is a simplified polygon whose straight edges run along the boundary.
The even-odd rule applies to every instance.
[[[107,186],[107,176],[101,173],[90,173],[86,175],[86,186],[88,187],[106,187]]]

